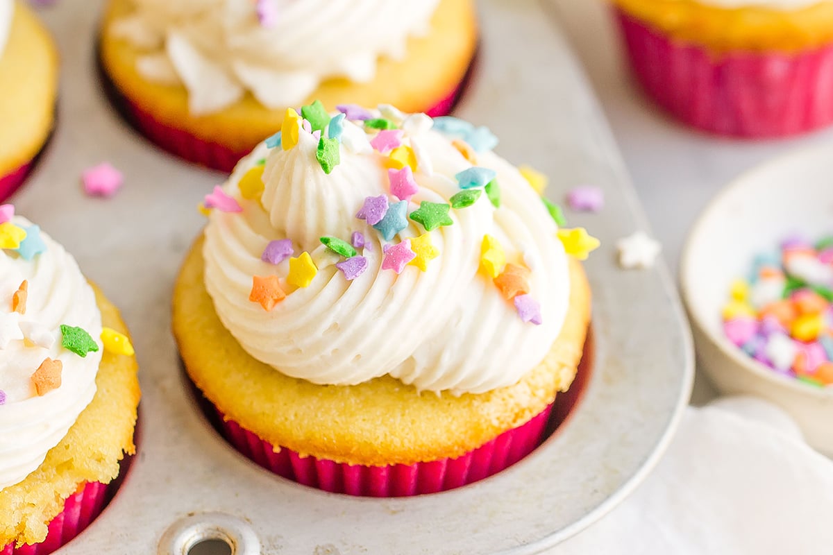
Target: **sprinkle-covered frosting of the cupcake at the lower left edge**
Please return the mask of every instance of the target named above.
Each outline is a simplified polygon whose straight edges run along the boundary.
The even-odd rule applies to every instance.
[[[0,206],[0,488],[35,470],[87,407],[102,320],[76,261]]]

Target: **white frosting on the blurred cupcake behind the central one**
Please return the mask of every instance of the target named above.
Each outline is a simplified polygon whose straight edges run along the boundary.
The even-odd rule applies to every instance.
[[[140,49],[137,71],[182,84],[195,115],[250,92],[267,108],[303,102],[332,77],[367,82],[402,58],[439,0],[132,0],[111,28]]]

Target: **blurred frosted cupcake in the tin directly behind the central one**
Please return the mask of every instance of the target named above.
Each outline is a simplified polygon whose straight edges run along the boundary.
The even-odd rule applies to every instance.
[[[471,0],[110,0],[101,62],[139,131],[231,171],[312,98],[446,113],[476,38]]]

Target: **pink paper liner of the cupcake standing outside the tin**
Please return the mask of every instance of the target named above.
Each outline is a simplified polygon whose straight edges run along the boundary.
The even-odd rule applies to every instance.
[[[833,123],[833,44],[806,52],[730,52],[679,42],[621,9],[628,58],[647,94],[690,126],[773,138]]]

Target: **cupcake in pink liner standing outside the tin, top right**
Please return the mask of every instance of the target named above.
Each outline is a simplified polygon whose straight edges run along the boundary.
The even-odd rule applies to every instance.
[[[636,77],[681,121],[748,138],[833,121],[833,2],[613,2]]]

